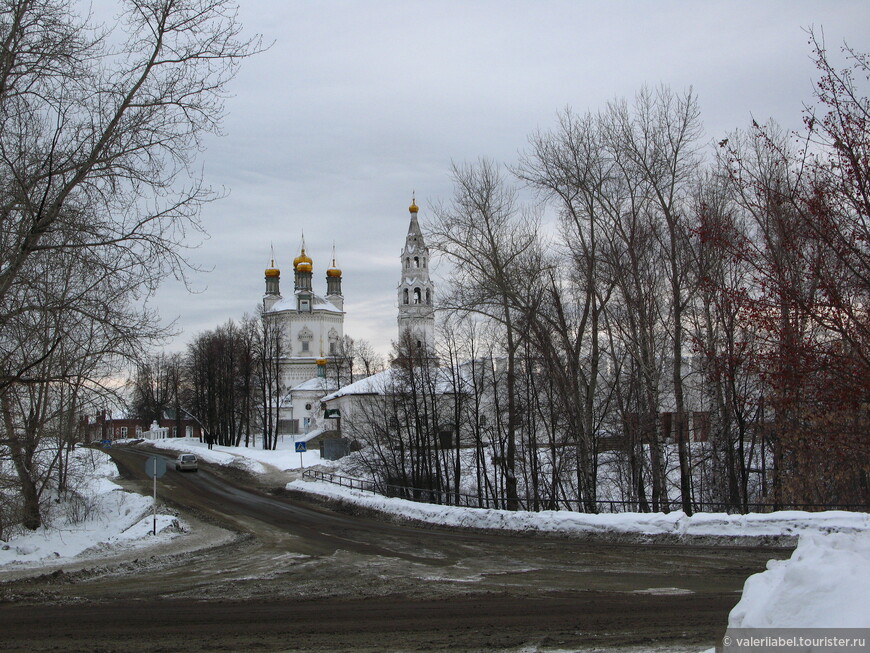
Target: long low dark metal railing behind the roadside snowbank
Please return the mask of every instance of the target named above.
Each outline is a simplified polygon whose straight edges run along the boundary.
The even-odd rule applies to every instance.
[[[303,478],[325,481],[342,487],[366,490],[382,496],[419,501],[420,503],[434,503],[446,506],[460,506],[464,508],[504,509],[508,506],[507,499],[504,498],[482,497],[475,494],[464,493],[457,494],[456,492],[446,490],[414,488],[401,485],[385,485],[375,481],[342,476],[341,474],[333,474],[332,472],[305,470],[302,472],[302,476]],[[652,502],[650,502],[650,505],[651,503]],[[535,510],[535,505],[535,501],[529,497],[519,498],[520,510]],[[600,499],[595,501],[594,505],[596,507],[595,512],[598,513],[649,512],[648,510],[644,511],[641,504],[636,500],[621,501]],[[538,511],[553,509],[550,503],[543,499],[538,499],[537,506]],[[589,510],[587,510],[587,502],[582,501],[560,501],[558,507],[555,509],[589,512]],[[682,510],[683,504],[681,501],[660,503],[659,511],[665,511],[665,509],[667,512]],[[870,504],[749,503],[745,506],[734,506],[733,504],[725,502],[693,501],[692,510],[694,512],[724,512],[731,514],[741,514],[745,512],[774,512],[777,510],[805,510],[808,512],[818,512],[821,510],[848,510],[852,512],[870,512]]]

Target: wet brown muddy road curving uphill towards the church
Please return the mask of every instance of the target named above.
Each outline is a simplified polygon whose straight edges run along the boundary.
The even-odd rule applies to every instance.
[[[145,452],[111,453],[150,494]],[[214,545],[0,585],[4,651],[700,650],[790,554],[392,523],[169,462],[160,500]]]

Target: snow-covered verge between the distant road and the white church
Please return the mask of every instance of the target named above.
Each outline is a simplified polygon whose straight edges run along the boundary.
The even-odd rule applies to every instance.
[[[300,435],[300,440],[308,436]],[[282,438],[276,449],[259,449],[257,447],[223,447],[214,445],[208,448],[205,442],[196,438],[167,438],[165,440],[146,440],[142,443],[156,449],[177,451],[178,453],[194,453],[199,459],[215,465],[225,465],[244,469],[251,474],[265,474],[266,465],[286,471],[299,469],[299,454],[294,448],[292,438]],[[323,465],[333,462],[321,460],[319,451],[306,451],[302,454],[302,464],[305,467]]]

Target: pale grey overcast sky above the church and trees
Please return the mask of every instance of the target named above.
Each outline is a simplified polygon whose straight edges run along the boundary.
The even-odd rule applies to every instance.
[[[866,0],[240,4],[246,30],[274,45],[243,63],[225,135],[201,157],[229,196],[203,213],[199,292],[167,282],[155,299],[178,318],[173,349],[255,310],[270,243],[292,293],[304,230],[315,291],[335,241],[345,333],[387,353],[411,193],[425,229],[452,161],[512,163],[558,111],[644,84],[693,87],[711,142],[753,117],[796,128],[814,79],[803,28],[823,27],[829,49],[870,50]]]

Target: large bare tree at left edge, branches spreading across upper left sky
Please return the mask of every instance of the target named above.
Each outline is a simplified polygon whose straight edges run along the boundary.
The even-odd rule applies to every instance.
[[[184,277],[185,241],[217,197],[193,158],[259,49],[226,0],[123,5],[108,29],[62,0],[0,6],[0,400],[24,470],[28,401],[52,384],[99,386],[163,333],[147,299]]]

